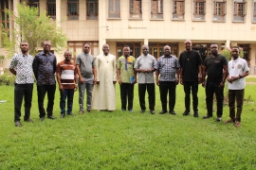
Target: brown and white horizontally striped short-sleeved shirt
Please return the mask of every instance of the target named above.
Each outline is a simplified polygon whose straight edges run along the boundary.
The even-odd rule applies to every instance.
[[[75,76],[77,76],[77,67],[74,63],[65,63],[65,60],[57,64],[56,73],[61,75],[61,83],[64,89],[75,88]]]

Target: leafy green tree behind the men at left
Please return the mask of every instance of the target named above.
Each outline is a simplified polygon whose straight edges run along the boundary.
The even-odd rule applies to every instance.
[[[27,41],[29,44],[29,54],[35,55],[42,42],[51,42],[54,50],[61,51],[66,46],[67,38],[61,27],[56,22],[46,16],[46,11],[38,16],[38,8],[29,8],[26,3],[17,6],[17,13],[10,9],[5,12],[9,15],[9,29],[3,28],[2,36],[4,47],[17,53],[20,42]]]

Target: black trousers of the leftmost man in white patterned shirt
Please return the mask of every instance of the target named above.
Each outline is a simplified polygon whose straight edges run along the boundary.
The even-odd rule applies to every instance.
[[[15,84],[14,88],[14,122],[20,121],[21,106],[24,97],[25,116],[24,120],[30,117],[30,109],[33,94],[33,84]]]

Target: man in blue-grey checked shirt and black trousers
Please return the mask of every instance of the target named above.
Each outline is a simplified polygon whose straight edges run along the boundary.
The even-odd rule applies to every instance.
[[[167,112],[167,93],[169,91],[169,112],[176,114],[174,111],[176,100],[176,85],[179,82],[179,62],[178,59],[171,55],[171,47],[164,47],[164,56],[156,62],[155,80],[159,86],[162,110],[160,114]]]

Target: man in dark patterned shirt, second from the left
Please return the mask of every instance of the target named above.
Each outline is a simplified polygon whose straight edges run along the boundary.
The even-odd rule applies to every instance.
[[[38,109],[40,121],[43,121],[46,117],[48,119],[56,119],[52,115],[54,96],[56,91],[56,57],[50,52],[51,43],[44,42],[44,50],[35,56],[33,61],[33,71],[37,80],[37,96],[38,96]],[[44,100],[47,93],[48,103],[47,109],[44,108]]]

